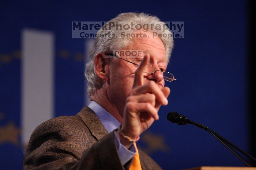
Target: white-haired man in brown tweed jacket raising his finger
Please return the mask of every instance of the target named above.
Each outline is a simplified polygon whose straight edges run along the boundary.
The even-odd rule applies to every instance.
[[[164,24],[145,13],[121,13],[110,21]],[[85,75],[91,103],[76,116],[39,125],[31,135],[24,169],[161,169],[135,142],[159,119],[159,107],[168,104],[165,81],[175,79],[165,70],[173,39],[155,36],[163,29],[154,28],[98,33],[117,38],[96,38],[90,51]],[[121,34],[143,37],[121,38]],[[116,50],[139,50],[142,55],[122,57],[113,54]]]

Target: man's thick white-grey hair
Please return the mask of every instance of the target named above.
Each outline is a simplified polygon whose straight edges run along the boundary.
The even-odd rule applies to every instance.
[[[135,12],[128,12],[128,13],[120,13],[116,16],[116,18],[113,18],[109,22],[121,22],[123,24],[128,24],[131,26],[131,22],[135,24],[143,25],[145,23],[152,23],[153,25],[159,24],[164,26],[165,23],[161,22],[159,18],[156,16],[152,16],[150,14],[146,13],[135,13]],[[109,22],[106,24],[109,26]],[[105,24],[105,25],[106,25]],[[131,34],[136,30],[120,30],[120,29],[113,29],[106,30],[106,29],[100,29],[97,34],[107,35],[110,33],[114,35],[120,35],[121,32],[125,32],[125,34]],[[171,35],[172,32],[167,29],[164,30],[163,28],[161,30],[156,30],[154,28],[154,31],[158,33],[165,33]],[[160,37],[159,37],[160,38]],[[166,51],[166,58],[167,62],[169,62],[172,49],[173,49],[173,37],[161,37],[160,38],[163,42],[163,45],[165,46]],[[94,59],[97,53],[105,53],[105,54],[113,54],[114,50],[120,50],[132,43],[132,38],[95,38],[95,42],[93,46],[91,47],[89,57],[90,61],[86,64],[85,69],[85,76],[87,78],[87,94],[90,97],[96,89],[100,89],[103,85],[103,81],[95,74],[95,68],[94,68]]]

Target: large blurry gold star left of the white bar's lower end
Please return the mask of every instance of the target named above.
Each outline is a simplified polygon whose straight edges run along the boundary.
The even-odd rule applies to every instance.
[[[7,142],[18,145],[19,133],[19,128],[12,122],[9,122],[4,127],[0,127],[0,144]]]

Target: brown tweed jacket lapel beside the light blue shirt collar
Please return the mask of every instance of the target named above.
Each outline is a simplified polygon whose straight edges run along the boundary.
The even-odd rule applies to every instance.
[[[81,119],[89,128],[91,134],[96,140],[99,140],[108,134],[108,131],[105,129],[98,116],[89,107],[84,106],[82,110],[78,113],[78,116],[81,117]]]

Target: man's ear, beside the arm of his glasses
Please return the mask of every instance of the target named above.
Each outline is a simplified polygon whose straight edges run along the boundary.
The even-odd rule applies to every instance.
[[[94,59],[95,74],[103,81],[108,81],[108,58],[104,53],[98,53]]]

